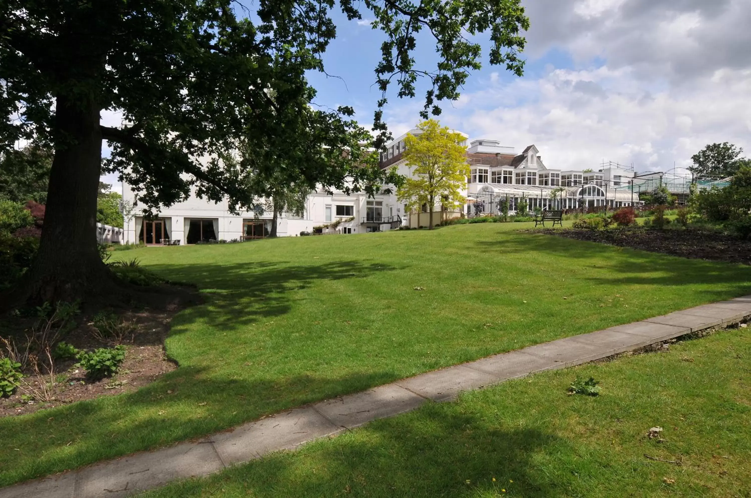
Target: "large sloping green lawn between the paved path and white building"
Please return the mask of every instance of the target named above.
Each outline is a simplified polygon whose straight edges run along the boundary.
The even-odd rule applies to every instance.
[[[173,320],[180,368],[136,392],[0,419],[0,485],[751,293],[748,266],[514,231],[530,226],[116,253],[206,293]]]

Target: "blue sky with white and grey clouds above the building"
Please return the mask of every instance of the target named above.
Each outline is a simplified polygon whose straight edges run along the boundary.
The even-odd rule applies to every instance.
[[[522,2],[531,23],[524,76],[488,65],[485,46],[484,67],[459,101],[442,105],[442,124],[517,151],[534,143],[556,169],[612,160],[639,172],[681,170],[713,142],[751,155],[751,1]],[[311,74],[315,104],[349,105],[368,125],[380,96],[372,83],[383,38],[367,23],[336,20],[324,62],[343,81]],[[432,68],[433,43],[419,41],[418,65]],[[424,86],[414,99],[395,95],[385,119],[396,136],[419,121]]]

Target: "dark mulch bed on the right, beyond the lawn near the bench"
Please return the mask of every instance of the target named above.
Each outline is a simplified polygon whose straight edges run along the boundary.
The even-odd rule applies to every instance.
[[[726,261],[751,265],[751,242],[734,239],[706,229],[628,229],[581,230],[540,229],[568,239],[600,242],[623,248],[635,248],[653,253],[671,254],[699,260]]]

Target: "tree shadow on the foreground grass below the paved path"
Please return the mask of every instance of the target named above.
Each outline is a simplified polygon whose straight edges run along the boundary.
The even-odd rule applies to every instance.
[[[490,419],[461,404],[427,404],[147,496],[556,496],[535,455],[569,443]]]

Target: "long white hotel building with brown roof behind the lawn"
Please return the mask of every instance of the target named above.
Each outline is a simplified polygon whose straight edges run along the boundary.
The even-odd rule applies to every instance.
[[[406,133],[387,145],[381,156],[382,168],[396,167],[400,174],[412,174],[412,167],[403,160],[405,137]],[[482,202],[484,212],[495,213],[501,198],[508,199],[512,213],[520,200],[526,200],[530,210],[600,205],[618,208],[638,203],[638,196],[630,188],[634,172],[623,167],[611,166],[596,172],[549,169],[535,145],[515,154],[513,147],[489,139],[469,142],[467,160],[471,175],[464,190],[468,199],[462,211],[466,213],[474,213],[477,202]],[[559,187],[566,188],[561,191]],[[124,202],[134,201],[134,192],[128,184],[122,185],[122,196]],[[458,209],[442,213],[440,205],[436,205],[435,211],[434,223],[440,217],[461,214]],[[270,212],[231,214],[227,202],[215,204],[192,196],[185,202],[162,208],[155,219],[143,216],[126,219],[124,239],[126,243],[146,245],[260,239],[268,235],[272,215]],[[428,224],[427,214],[406,213],[406,205],[397,201],[395,193],[368,198],[364,193],[332,195],[324,190],[308,196],[303,216],[281,213],[277,223],[278,236],[297,236],[303,232],[364,233],[395,229],[401,224]]]

